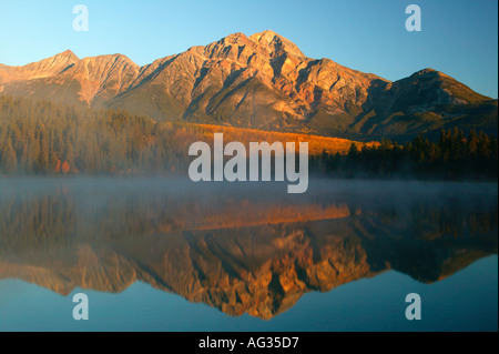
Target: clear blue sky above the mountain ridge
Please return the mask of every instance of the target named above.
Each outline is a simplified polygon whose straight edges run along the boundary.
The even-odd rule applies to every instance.
[[[72,28],[77,4],[89,31]],[[408,32],[406,6],[421,9]],[[312,58],[398,80],[424,68],[498,97],[497,0],[0,0],[0,63],[26,64],[71,49],[122,53],[146,64],[230,33],[272,29]]]

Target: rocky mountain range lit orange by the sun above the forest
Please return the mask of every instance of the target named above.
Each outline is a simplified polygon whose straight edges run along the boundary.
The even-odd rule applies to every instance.
[[[230,34],[139,67],[71,51],[0,65],[0,92],[190,121],[349,139],[408,140],[442,128],[497,134],[497,100],[431,69],[389,81],[307,58],[273,32]]]

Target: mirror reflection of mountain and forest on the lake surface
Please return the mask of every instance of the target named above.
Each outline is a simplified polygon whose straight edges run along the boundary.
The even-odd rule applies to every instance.
[[[497,253],[497,184],[160,179],[0,181],[0,279],[67,295],[145,282],[272,318],[308,292],[396,270],[438,282]]]

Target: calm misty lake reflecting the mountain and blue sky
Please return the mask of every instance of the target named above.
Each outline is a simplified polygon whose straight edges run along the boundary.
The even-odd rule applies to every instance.
[[[497,183],[3,178],[0,331],[497,331]]]

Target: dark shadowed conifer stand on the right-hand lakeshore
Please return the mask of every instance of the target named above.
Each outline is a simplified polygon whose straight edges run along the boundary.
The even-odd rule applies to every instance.
[[[462,130],[442,130],[437,142],[422,135],[405,145],[383,140],[379,145],[357,149],[348,154],[312,156],[314,171],[337,178],[430,178],[446,180],[497,180],[498,140]]]

